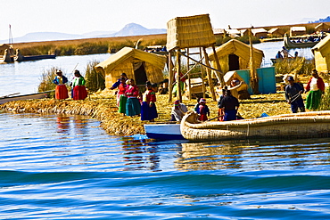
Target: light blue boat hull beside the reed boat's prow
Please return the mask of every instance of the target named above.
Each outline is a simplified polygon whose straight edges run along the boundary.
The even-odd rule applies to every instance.
[[[185,140],[180,131],[180,124],[146,124],[145,134],[158,140]]]

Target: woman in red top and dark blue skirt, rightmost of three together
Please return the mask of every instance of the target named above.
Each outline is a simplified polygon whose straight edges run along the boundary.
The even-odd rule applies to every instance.
[[[146,91],[143,95],[143,101],[141,104],[141,120],[154,121],[154,118],[158,118],[156,109],[156,94],[153,91],[152,84],[146,82]]]

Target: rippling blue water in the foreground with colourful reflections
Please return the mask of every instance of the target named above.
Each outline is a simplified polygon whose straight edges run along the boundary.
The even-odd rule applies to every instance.
[[[153,142],[0,114],[1,219],[329,219],[328,139]]]

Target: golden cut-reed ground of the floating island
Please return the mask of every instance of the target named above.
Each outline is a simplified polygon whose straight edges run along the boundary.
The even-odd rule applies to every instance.
[[[243,118],[257,118],[262,113],[269,116],[290,113],[290,105],[285,102],[283,93],[252,95],[250,100],[242,100],[239,113]],[[194,109],[195,100],[184,100],[188,110]],[[165,94],[157,95],[157,110],[159,118],[157,122],[169,120],[172,104],[169,103],[169,96]],[[218,116],[217,102],[207,99],[210,108],[210,118]],[[101,122],[101,126],[108,134],[131,135],[145,134],[144,124],[148,121],[141,121],[139,117],[122,116],[118,112],[116,98],[113,94],[95,94],[84,101],[76,100],[25,100],[16,102],[6,102],[0,105],[0,110],[14,113],[38,113],[38,114],[69,114],[85,115],[95,118]],[[215,120],[215,119],[214,119]]]

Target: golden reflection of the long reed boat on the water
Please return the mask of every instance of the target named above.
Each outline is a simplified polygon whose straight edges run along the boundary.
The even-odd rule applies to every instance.
[[[180,170],[281,169],[330,164],[330,143],[321,140],[260,143],[181,143]]]

